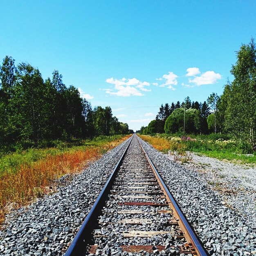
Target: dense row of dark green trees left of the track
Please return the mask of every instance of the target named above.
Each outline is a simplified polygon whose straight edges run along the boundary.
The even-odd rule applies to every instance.
[[[0,148],[2,153],[49,147],[55,140],[129,134],[109,106],[92,109],[73,85],[54,70],[43,79],[38,68],[5,56],[0,66]]]

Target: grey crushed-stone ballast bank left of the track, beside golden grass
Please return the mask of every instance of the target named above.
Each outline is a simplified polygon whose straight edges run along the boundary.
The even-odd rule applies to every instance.
[[[63,255],[130,138],[103,155],[67,186],[7,216],[0,231],[0,255]],[[65,183],[65,176],[60,183]]]

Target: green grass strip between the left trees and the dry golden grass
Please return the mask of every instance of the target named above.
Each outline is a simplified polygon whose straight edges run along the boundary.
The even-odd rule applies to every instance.
[[[65,152],[85,150],[88,147],[103,146],[107,142],[121,139],[122,137],[124,137],[124,135],[100,136],[92,140],[74,139],[68,142],[56,140],[52,142],[53,147],[51,148],[28,148],[8,154],[2,153],[0,156],[0,175],[4,173],[16,173],[20,164],[31,164],[38,160],[45,159],[48,155],[56,156]],[[104,148],[102,148],[102,153],[105,153]]]

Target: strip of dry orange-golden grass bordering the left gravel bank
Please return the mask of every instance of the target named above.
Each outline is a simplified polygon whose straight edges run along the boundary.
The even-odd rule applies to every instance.
[[[102,153],[119,145],[130,135],[116,139],[103,146],[89,146],[85,150],[72,150],[61,155],[47,155],[43,160],[21,164],[16,173],[5,173],[0,179],[0,223],[4,220],[7,207],[27,204],[33,198],[47,193],[47,186],[67,173],[77,173]]]

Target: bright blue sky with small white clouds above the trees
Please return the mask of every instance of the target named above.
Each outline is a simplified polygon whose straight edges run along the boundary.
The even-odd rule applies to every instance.
[[[44,79],[59,70],[137,130],[161,103],[222,93],[235,51],[256,38],[255,10],[255,0],[0,0],[0,58]]]

